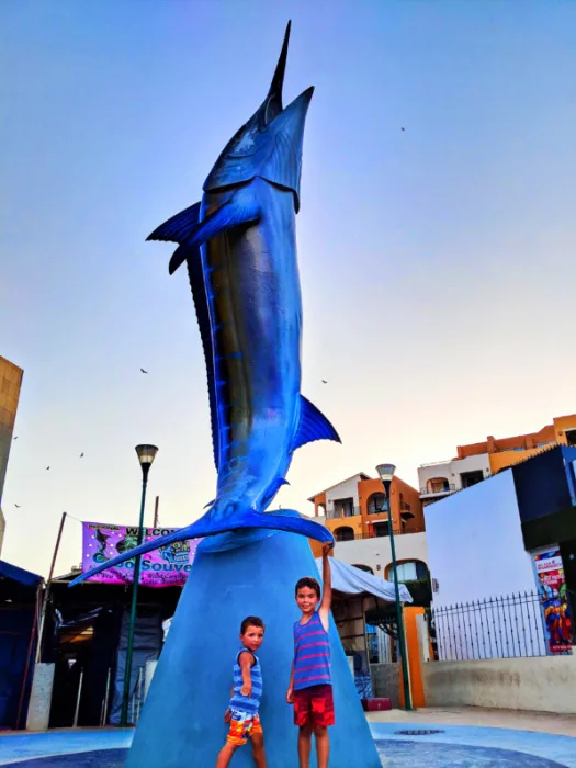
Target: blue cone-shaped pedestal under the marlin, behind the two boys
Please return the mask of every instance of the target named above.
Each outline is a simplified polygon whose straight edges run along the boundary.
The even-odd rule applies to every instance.
[[[126,768],[214,768],[225,743],[224,713],[240,645],[240,623],[266,623],[259,652],[264,692],[260,718],[268,765],[297,765],[297,729],[285,703],[293,659],[293,624],[300,617],[294,586],[317,576],[306,539],[278,533],[248,546],[196,555]],[[381,768],[338,632],[330,626],[336,725],[329,729],[330,768]],[[316,766],[313,745],[310,766]],[[252,767],[250,745],[236,750],[234,768]]]

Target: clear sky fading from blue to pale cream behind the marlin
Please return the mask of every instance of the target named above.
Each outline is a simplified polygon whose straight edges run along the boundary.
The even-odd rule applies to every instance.
[[[200,199],[289,18],[285,102],[316,86],[303,393],[343,445],[301,449],[279,502],[387,460],[416,485],[576,411],[575,2],[3,0],[0,354],[25,371],[3,558],[45,574],[63,510],[135,523],[137,442],[160,447],[149,523],[156,494],[168,526],[213,498],[187,275],[145,238]],[[79,561],[70,520],[57,569]]]

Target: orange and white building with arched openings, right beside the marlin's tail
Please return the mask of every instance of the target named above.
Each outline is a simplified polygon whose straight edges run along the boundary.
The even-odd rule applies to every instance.
[[[336,541],[388,535],[388,499],[380,478],[359,472],[308,501],[314,504],[316,517],[326,518]],[[394,533],[423,531],[419,493],[399,477],[392,481],[389,507]]]

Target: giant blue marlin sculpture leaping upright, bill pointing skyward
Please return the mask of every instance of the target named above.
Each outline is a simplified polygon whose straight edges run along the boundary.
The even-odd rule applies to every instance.
[[[184,539],[228,533],[234,540],[235,532],[241,540],[247,529],[272,529],[332,541],[328,529],[293,510],[264,511],[286,483],[297,448],[320,439],[340,442],[300,391],[295,214],[314,88],[283,109],[290,26],[264,102],[224,148],[201,202],[147,238],[179,244],[170,274],[188,266],[207,369],[216,498],[200,520],[113,557],[70,586]]]

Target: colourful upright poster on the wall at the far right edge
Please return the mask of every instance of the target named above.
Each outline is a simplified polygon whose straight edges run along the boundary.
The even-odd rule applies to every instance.
[[[572,652],[572,610],[557,546],[534,555],[546,639],[551,653]]]

